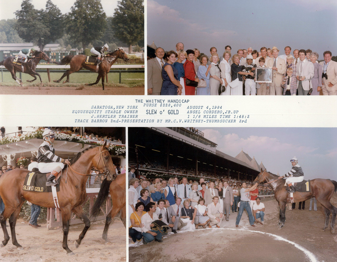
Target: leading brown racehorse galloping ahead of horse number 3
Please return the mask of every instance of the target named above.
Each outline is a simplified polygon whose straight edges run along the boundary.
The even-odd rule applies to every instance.
[[[90,71],[96,72],[97,65],[85,64],[86,55],[75,55],[75,56],[66,56],[61,62],[54,62],[58,65],[66,65],[70,63],[70,69],[67,70],[59,80],[54,80],[56,83],[60,83],[63,77],[67,76],[67,80],[63,81],[64,83],[69,82],[69,75],[73,72],[77,72],[82,68],[88,69]],[[123,59],[125,62],[128,62],[130,59],[127,57],[123,49],[118,48],[112,53],[107,54],[102,63],[98,66],[98,76],[95,83],[86,84],[86,86],[96,85],[99,82],[99,79],[102,78],[102,87],[104,90],[104,78],[105,75],[109,73],[111,66],[116,62],[117,58]]]

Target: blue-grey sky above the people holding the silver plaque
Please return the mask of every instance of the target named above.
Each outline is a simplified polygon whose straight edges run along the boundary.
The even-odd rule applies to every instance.
[[[147,42],[165,51],[183,42],[184,50],[207,55],[215,46],[219,56],[226,45],[232,55],[248,47],[276,46],[279,55],[285,46],[310,48],[323,60],[326,50],[337,55],[336,14],[336,0],[148,0]]]

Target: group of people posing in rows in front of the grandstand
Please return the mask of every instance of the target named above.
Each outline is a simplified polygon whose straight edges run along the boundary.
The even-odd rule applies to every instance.
[[[252,187],[248,182],[247,185],[248,188]],[[178,177],[168,180],[159,177],[131,178],[128,190],[129,238],[132,243],[142,238],[143,244],[152,240],[162,242],[162,236],[167,233],[157,230],[157,224],[161,222],[175,234],[178,230],[198,227],[220,228],[222,219],[229,220],[230,209],[237,212],[241,188],[242,183],[233,179],[230,182],[226,179],[209,179],[205,182],[204,178],[188,181],[187,177],[181,181]],[[250,196],[251,205],[258,195],[266,195],[267,191],[273,194],[269,186],[259,186],[256,192],[251,191],[255,193]],[[228,201],[230,205],[224,200],[225,197],[227,200],[231,198]]]

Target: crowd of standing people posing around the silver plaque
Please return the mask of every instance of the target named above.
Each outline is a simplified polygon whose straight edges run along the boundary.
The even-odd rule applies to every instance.
[[[156,57],[148,60],[148,94],[160,95],[163,88],[170,87],[174,90],[170,95],[319,95],[320,91],[337,95],[337,63],[331,60],[330,51],[323,53],[320,63],[318,53],[310,49],[292,53],[286,46],[280,56],[279,51],[276,46],[263,46],[260,52],[248,47],[233,54],[226,45],[220,56],[214,46],[209,54],[197,48],[185,52],[182,42],[176,44],[176,51],[165,53],[158,47]],[[256,82],[258,67],[272,68],[272,83]],[[170,78],[162,78],[168,69]]]

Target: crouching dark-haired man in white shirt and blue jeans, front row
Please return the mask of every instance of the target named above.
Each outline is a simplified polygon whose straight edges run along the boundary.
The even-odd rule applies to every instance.
[[[151,241],[163,242],[161,239],[161,232],[159,230],[151,230],[151,227],[154,226],[152,224],[155,220],[162,220],[158,218],[156,214],[156,204],[154,202],[150,202],[146,205],[146,210],[148,211],[146,214],[142,216],[141,223],[144,227],[141,228],[143,235],[143,244],[147,244]]]

